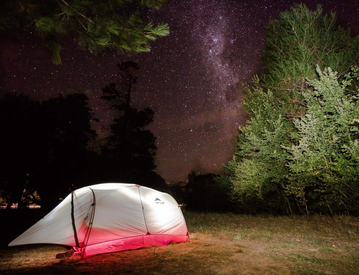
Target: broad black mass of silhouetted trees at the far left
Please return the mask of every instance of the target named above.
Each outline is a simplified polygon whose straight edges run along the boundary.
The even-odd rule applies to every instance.
[[[83,94],[42,102],[6,93],[0,119],[0,192],[11,203],[38,203],[51,209],[84,174],[88,144],[96,136]]]

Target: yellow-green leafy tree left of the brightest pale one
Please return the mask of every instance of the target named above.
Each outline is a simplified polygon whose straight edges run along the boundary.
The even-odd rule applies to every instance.
[[[289,172],[288,152],[281,147],[289,142],[290,123],[284,116],[285,106],[275,104],[273,93],[265,92],[258,79],[252,90],[247,89],[247,98],[252,101],[244,101],[243,106],[251,119],[246,126],[239,127],[236,154],[224,167],[232,196],[242,203],[258,196],[269,202],[267,208],[279,205],[290,213],[284,192],[285,175]],[[283,198],[282,204],[278,204],[278,196]]]

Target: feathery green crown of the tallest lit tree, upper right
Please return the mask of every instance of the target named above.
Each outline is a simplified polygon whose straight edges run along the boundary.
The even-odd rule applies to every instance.
[[[267,26],[263,61],[263,84],[276,97],[299,100],[317,64],[341,76],[359,61],[359,37],[351,38],[349,29],[336,25],[336,14],[323,15],[320,5],[315,11],[294,5]]]

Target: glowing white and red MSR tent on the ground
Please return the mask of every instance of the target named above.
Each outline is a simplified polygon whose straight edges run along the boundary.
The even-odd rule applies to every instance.
[[[167,193],[138,184],[77,189],[9,243],[72,246],[81,257],[189,241],[180,206]]]

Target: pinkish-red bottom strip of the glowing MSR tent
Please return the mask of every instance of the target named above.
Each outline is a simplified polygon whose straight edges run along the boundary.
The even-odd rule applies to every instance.
[[[188,236],[183,235],[144,235],[130,238],[123,238],[113,241],[95,243],[83,247],[84,257],[91,257],[97,254],[116,252],[121,250],[138,249],[149,246],[163,246],[170,242],[187,242]],[[75,254],[81,255],[81,248],[73,246]]]

